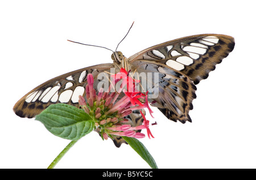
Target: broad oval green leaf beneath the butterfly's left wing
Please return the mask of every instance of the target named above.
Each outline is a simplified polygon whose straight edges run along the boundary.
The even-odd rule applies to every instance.
[[[70,140],[78,140],[94,128],[92,117],[68,104],[50,105],[35,119],[42,122],[52,134]]]

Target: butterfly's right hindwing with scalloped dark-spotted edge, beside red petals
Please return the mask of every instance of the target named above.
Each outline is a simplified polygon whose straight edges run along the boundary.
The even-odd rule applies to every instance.
[[[147,85],[152,88],[158,85],[158,96],[150,100],[151,102],[155,101],[154,104],[151,104],[152,106],[160,108],[161,112],[164,111],[163,109],[169,110],[164,115],[172,121],[182,123],[191,121],[188,112],[193,109],[192,100],[196,98],[196,86],[191,78],[167,65],[154,61],[137,60],[133,65],[136,68],[134,71],[137,72],[158,73],[158,84]],[[154,79],[147,79],[147,83],[149,82],[154,82]],[[146,89],[146,91],[152,92],[151,89]]]

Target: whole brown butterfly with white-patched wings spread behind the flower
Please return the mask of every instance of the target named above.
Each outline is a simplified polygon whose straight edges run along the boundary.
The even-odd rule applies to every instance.
[[[149,99],[151,105],[172,121],[192,122],[188,113],[193,109],[196,84],[207,79],[209,72],[232,52],[234,44],[231,36],[203,34],[167,41],[129,58],[115,50],[112,54],[113,63],[81,68],[48,80],[23,96],[13,109],[19,117],[33,118],[51,104],[66,103],[79,107],[78,97],[85,96],[86,76],[89,73],[94,77],[95,86],[101,82],[97,78],[98,74],[110,76],[111,68],[118,72],[124,67],[137,74],[158,73],[158,96]],[[152,84],[152,79],[146,81]],[[126,118],[135,125],[143,122],[138,111]],[[116,137],[114,143],[119,147],[126,142]]]

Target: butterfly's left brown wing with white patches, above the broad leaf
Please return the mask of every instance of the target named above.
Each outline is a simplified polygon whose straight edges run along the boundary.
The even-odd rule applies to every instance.
[[[85,95],[87,75],[91,73],[97,85],[97,75],[109,71],[111,67],[112,63],[90,66],[48,80],[16,102],[14,112],[19,117],[33,118],[51,104],[65,103],[79,107],[79,95]]]

